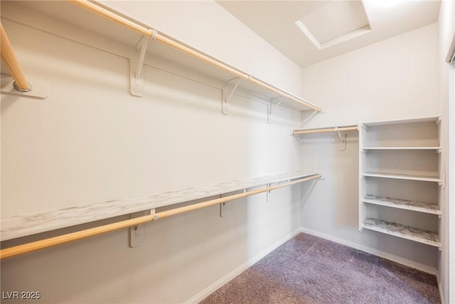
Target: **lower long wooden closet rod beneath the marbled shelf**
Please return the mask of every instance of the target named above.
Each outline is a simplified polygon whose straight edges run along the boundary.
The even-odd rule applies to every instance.
[[[110,232],[110,231],[114,231],[114,230],[118,230],[118,229],[122,229],[122,228],[127,228],[127,227],[131,227],[131,226],[137,226],[139,224],[144,224],[144,223],[149,222],[149,221],[156,221],[157,219],[164,219],[165,217],[168,217],[168,216],[181,214],[183,212],[188,212],[188,211],[204,208],[204,207],[207,207],[207,206],[212,206],[212,205],[215,205],[215,204],[223,204],[225,202],[232,201],[234,199],[240,199],[242,197],[246,197],[246,196],[250,196],[250,195],[254,195],[254,194],[259,194],[259,193],[262,193],[262,192],[268,192],[268,191],[271,191],[271,190],[274,190],[274,189],[291,186],[293,184],[298,184],[298,183],[301,183],[301,182],[306,182],[306,181],[309,181],[311,179],[319,179],[320,177],[321,177],[321,174],[314,174],[311,177],[305,177],[303,179],[296,179],[295,181],[287,182],[287,183],[284,183],[284,184],[277,184],[275,186],[265,187],[265,188],[262,188],[262,189],[252,190],[252,191],[249,191],[249,192],[242,192],[240,194],[233,194],[233,195],[230,195],[230,196],[221,197],[219,199],[212,199],[210,201],[203,201],[203,202],[198,203],[198,204],[192,204],[192,205],[189,205],[189,206],[183,206],[183,207],[179,207],[179,208],[176,208],[176,209],[171,209],[171,210],[167,210],[167,211],[161,211],[161,212],[156,213],[156,214],[140,216],[140,217],[137,217],[137,218],[134,218],[134,219],[127,219],[125,221],[119,221],[117,223],[112,223],[112,224],[107,224],[107,225],[104,225],[104,226],[99,226],[99,227],[95,227],[95,228],[85,229],[85,230],[82,230],[82,231],[76,231],[76,232],[73,232],[71,234],[63,234],[61,236],[55,236],[53,238],[43,239],[41,241],[34,241],[34,242],[31,242],[31,243],[25,243],[25,244],[19,245],[19,246],[14,246],[14,247],[10,247],[10,248],[1,249],[0,250],[0,259],[10,258],[12,256],[18,256],[19,254],[22,254],[22,253],[28,253],[28,252],[40,250],[40,249],[43,249],[43,248],[56,246],[56,245],[59,245],[59,244],[62,244],[62,243],[68,243],[70,241],[77,241],[77,240],[80,240],[80,239],[85,239],[85,238],[88,238],[90,236],[96,236],[98,234],[104,234],[106,232]]]

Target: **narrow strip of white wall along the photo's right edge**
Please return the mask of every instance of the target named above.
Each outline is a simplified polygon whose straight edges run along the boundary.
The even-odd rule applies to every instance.
[[[441,104],[443,135],[441,168],[446,174],[446,187],[441,193],[444,216],[441,219],[441,244],[443,250],[439,256],[439,276],[444,290],[445,303],[455,303],[455,208],[454,208],[454,96],[455,77],[453,66],[446,63],[449,46],[454,37],[455,5],[454,1],[441,1],[439,11],[439,103]],[[451,231],[451,235],[450,235]]]

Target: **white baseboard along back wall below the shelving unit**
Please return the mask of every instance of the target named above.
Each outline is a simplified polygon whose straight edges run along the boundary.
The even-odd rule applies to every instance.
[[[360,251],[365,251],[365,252],[373,254],[375,256],[379,256],[380,258],[386,258],[387,260],[394,261],[396,263],[399,263],[399,264],[402,264],[402,265],[405,265],[405,266],[408,266],[408,267],[411,267],[411,268],[414,268],[414,269],[418,269],[419,271],[424,271],[426,273],[437,275],[437,268],[434,268],[434,267],[431,267],[431,266],[427,266],[427,265],[422,264],[422,263],[417,263],[415,261],[408,260],[407,258],[402,258],[400,256],[395,256],[393,254],[390,254],[390,253],[387,253],[387,252],[384,252],[384,251],[380,251],[380,250],[375,249],[375,248],[371,248],[371,247],[368,247],[368,246],[363,246],[363,245],[360,245],[358,243],[354,243],[354,242],[351,242],[351,241],[347,241],[345,239],[338,238],[336,236],[331,236],[329,234],[323,234],[323,233],[321,233],[319,231],[314,231],[312,229],[300,227],[299,231],[303,232],[305,234],[311,234],[313,236],[319,236],[320,238],[326,239],[328,241],[333,241],[335,243],[341,243],[341,245],[352,247],[352,248],[358,249]]]

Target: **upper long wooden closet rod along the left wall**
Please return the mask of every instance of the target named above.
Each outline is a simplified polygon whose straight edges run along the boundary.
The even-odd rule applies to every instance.
[[[171,38],[168,38],[151,28],[146,28],[144,26],[141,26],[137,22],[131,21],[123,16],[120,16],[119,14],[109,11],[108,9],[102,8],[101,6],[98,6],[97,4],[94,4],[88,0],[68,0],[68,1],[70,1],[73,4],[76,4],[77,6],[82,7],[83,9],[86,9],[87,11],[91,11],[92,13],[105,17],[106,19],[114,21],[115,23],[118,23],[129,29],[132,29],[133,31],[137,31],[141,35],[154,38],[157,41],[160,41],[161,43],[164,43],[168,46],[178,49],[179,51],[182,51],[183,53],[187,53],[188,55],[191,55],[202,61],[215,65],[216,67],[218,67],[222,70],[225,70],[226,72],[231,73],[232,75],[235,75],[238,78],[241,78],[243,80],[249,80],[250,82],[257,84],[257,85],[261,86],[262,88],[266,88],[267,90],[271,90],[272,92],[277,93],[285,98],[288,98],[289,100],[292,100],[296,103],[300,103],[301,105],[305,105],[306,107],[311,108],[311,109],[315,110],[316,112],[322,112],[321,108],[310,103],[309,101],[304,100],[303,98],[300,98],[296,95],[288,93],[287,91],[277,88],[274,85],[265,83],[262,80],[254,78],[252,75],[248,75],[247,73],[242,72],[241,70],[237,70],[237,68],[232,68],[230,65],[227,65],[226,63],[223,63],[221,61],[218,61],[217,59],[211,58],[210,56],[207,56],[204,53],[201,53],[200,51],[196,51],[193,48],[185,46],[182,43],[179,43],[178,41],[174,41]]]

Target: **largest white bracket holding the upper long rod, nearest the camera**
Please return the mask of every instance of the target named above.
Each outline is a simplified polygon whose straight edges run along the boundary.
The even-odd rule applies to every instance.
[[[154,37],[153,34],[151,37]],[[134,96],[144,96],[144,75],[142,70],[149,40],[149,37],[142,36],[129,59],[129,92]]]

